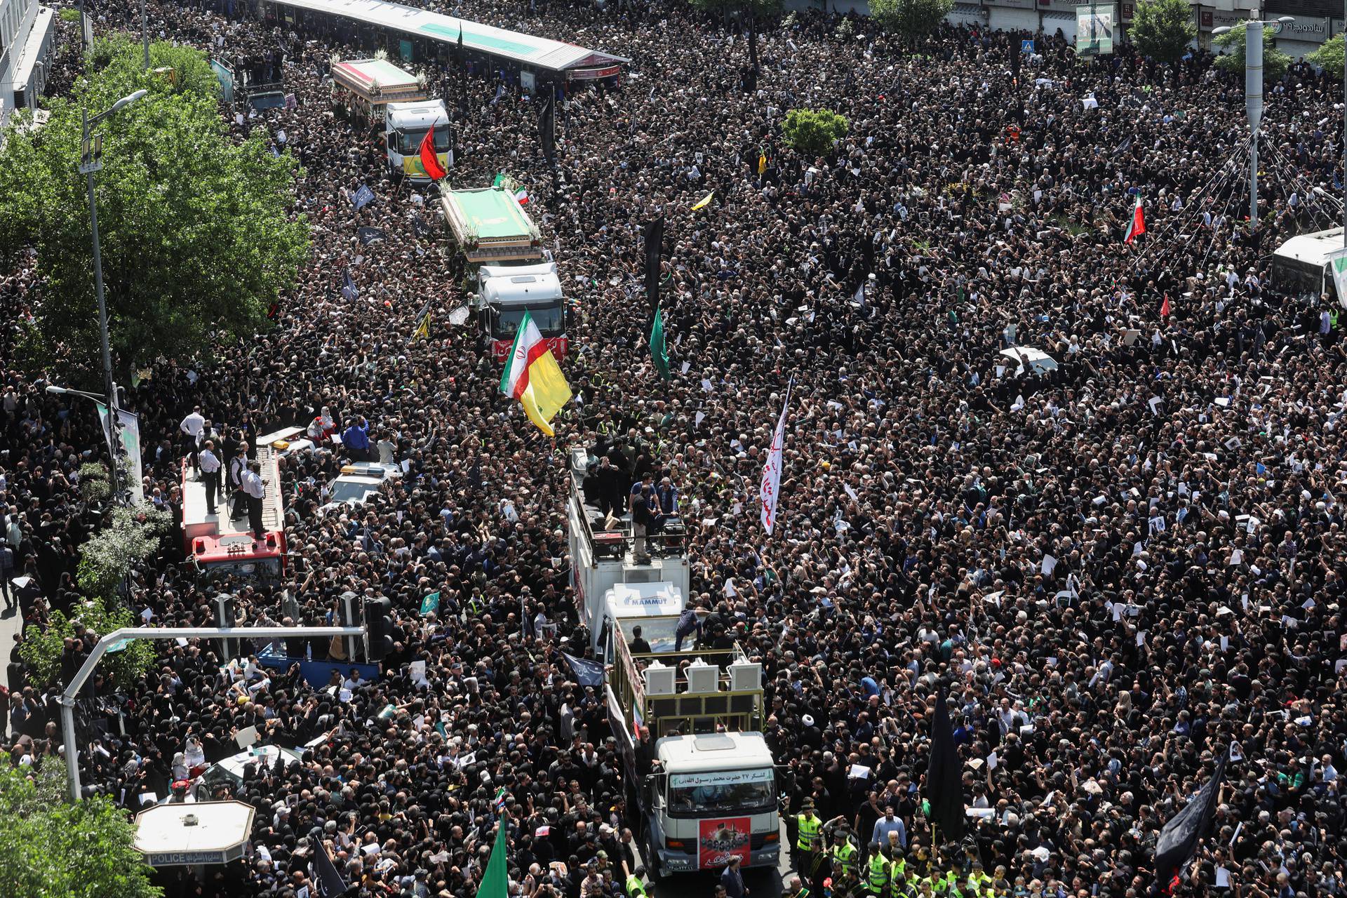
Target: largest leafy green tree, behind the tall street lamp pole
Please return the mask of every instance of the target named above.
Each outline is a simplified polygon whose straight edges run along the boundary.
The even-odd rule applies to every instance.
[[[98,232],[121,373],[256,333],[308,253],[307,221],[291,210],[296,160],[273,155],[260,129],[230,141],[202,54],[151,47],[176,83],[143,71],[140,54],[135,40],[100,42],[101,67],[73,100],[50,101],[47,125],[11,133],[0,151],[0,256],[35,249],[43,279],[20,351],[84,384],[101,378],[81,105],[97,113],[150,92],[98,129]]]

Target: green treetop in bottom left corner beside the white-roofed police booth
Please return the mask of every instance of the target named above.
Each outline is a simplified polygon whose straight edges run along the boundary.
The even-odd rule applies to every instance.
[[[66,771],[0,769],[0,870],[7,895],[162,898],[135,848],[136,828],[106,796],[69,804]]]

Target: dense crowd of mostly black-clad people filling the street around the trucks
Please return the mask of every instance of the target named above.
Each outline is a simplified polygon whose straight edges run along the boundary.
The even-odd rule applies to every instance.
[[[137,24],[102,9],[100,31]],[[1347,891],[1347,322],[1270,268],[1280,242],[1338,218],[1331,74],[1297,63],[1269,83],[1250,233],[1242,83],[1206,53],[1156,66],[1123,44],[1087,65],[1040,34],[1016,82],[1020,35],[946,26],[913,50],[867,20],[800,12],[760,28],[754,83],[741,28],[682,4],[453,12],[630,58],[620,88],[567,93],[555,171],[517,83],[496,100],[498,74],[428,66],[455,109],[453,183],[506,171],[527,186],[577,300],[575,400],[555,442],[498,394],[473,324],[447,320],[463,287],[434,188],[391,179],[376,136],[331,112],[331,59],[370,47],[339,28],[296,35],[241,1],[150,3],[159,38],[283,75],[294,108],[222,113],[302,160],[295,213],[314,249],[273,329],[218,361],[160,361],[128,389],[147,501],[180,514],[197,407],[226,444],[326,415],[407,462],[370,504],[319,514],[349,451],[287,458],[280,583],[203,583],[176,540],[131,579],[133,609],[166,626],[213,625],[224,590],[244,625],[327,625],[346,591],[399,617],[377,679],[315,688],[259,666],[260,645],[229,664],[218,641],[191,640],[155,644],[135,683],[94,680],[86,790],[129,810],[236,754],[248,727],[300,758],[198,794],[257,809],[245,860],[163,875],[186,876],[185,894],[313,897],[317,831],[360,895],[470,898],[504,788],[512,894],[622,894],[640,820],[605,704],[560,657],[589,644],[566,450],[603,440],[632,482],[668,478],[690,598],[765,668],[792,840],[811,805],[832,839],[842,817],[862,856],[892,841],[884,856],[909,880],[884,894],[904,898],[1134,898],[1156,889],[1161,825],[1226,755],[1208,839],[1160,885]],[[77,55],[61,51],[54,90]],[[834,109],[849,132],[801,156],[780,128],[797,106]],[[354,211],[360,186],[374,199]],[[1125,245],[1138,197],[1148,232]],[[656,215],[671,382],[649,361],[640,285]],[[387,237],[365,245],[365,226]],[[345,272],[358,295],[342,293]],[[426,299],[430,335],[412,339]],[[9,323],[40,304],[31,268],[0,276],[0,302]],[[1056,368],[1001,353],[1026,346]],[[768,536],[758,478],[791,378]],[[79,547],[106,514],[78,483],[100,456],[94,416],[47,382],[5,370],[0,384],[0,583],[7,606],[27,596],[30,638],[78,613]],[[54,695],[97,637],[66,642],[51,684],[11,656],[12,765],[61,765]],[[989,809],[958,845],[932,845],[921,812],[942,689],[966,801]],[[932,864],[956,885],[923,886]]]

